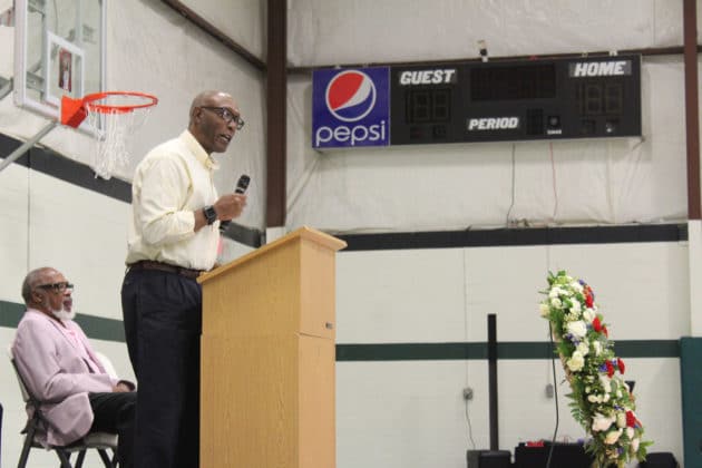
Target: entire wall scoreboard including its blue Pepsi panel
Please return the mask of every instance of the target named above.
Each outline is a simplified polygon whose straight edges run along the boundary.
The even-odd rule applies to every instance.
[[[641,57],[320,69],[312,146],[641,136]]]

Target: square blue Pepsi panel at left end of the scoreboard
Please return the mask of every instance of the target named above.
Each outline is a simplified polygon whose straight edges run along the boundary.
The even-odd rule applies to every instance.
[[[315,70],[312,147],[389,145],[389,77],[388,67]]]

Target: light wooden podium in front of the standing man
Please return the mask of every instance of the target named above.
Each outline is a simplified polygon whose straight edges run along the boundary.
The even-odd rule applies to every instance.
[[[206,273],[199,466],[333,468],[334,257],[302,227]]]

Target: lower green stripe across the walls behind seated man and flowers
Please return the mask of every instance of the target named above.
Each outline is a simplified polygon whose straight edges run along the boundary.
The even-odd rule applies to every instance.
[[[0,326],[17,328],[25,305],[0,301]],[[76,322],[95,340],[125,342],[121,320],[77,314]],[[615,343],[622,358],[680,358],[680,340],[627,340]],[[545,341],[497,344],[498,359],[550,359],[550,343]],[[381,343],[337,344],[337,361],[442,361],[485,360],[487,343]]]

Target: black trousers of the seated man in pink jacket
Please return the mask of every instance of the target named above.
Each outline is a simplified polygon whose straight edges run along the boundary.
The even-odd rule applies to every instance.
[[[88,397],[95,416],[90,430],[117,433],[119,467],[133,468],[137,393],[90,393]]]

